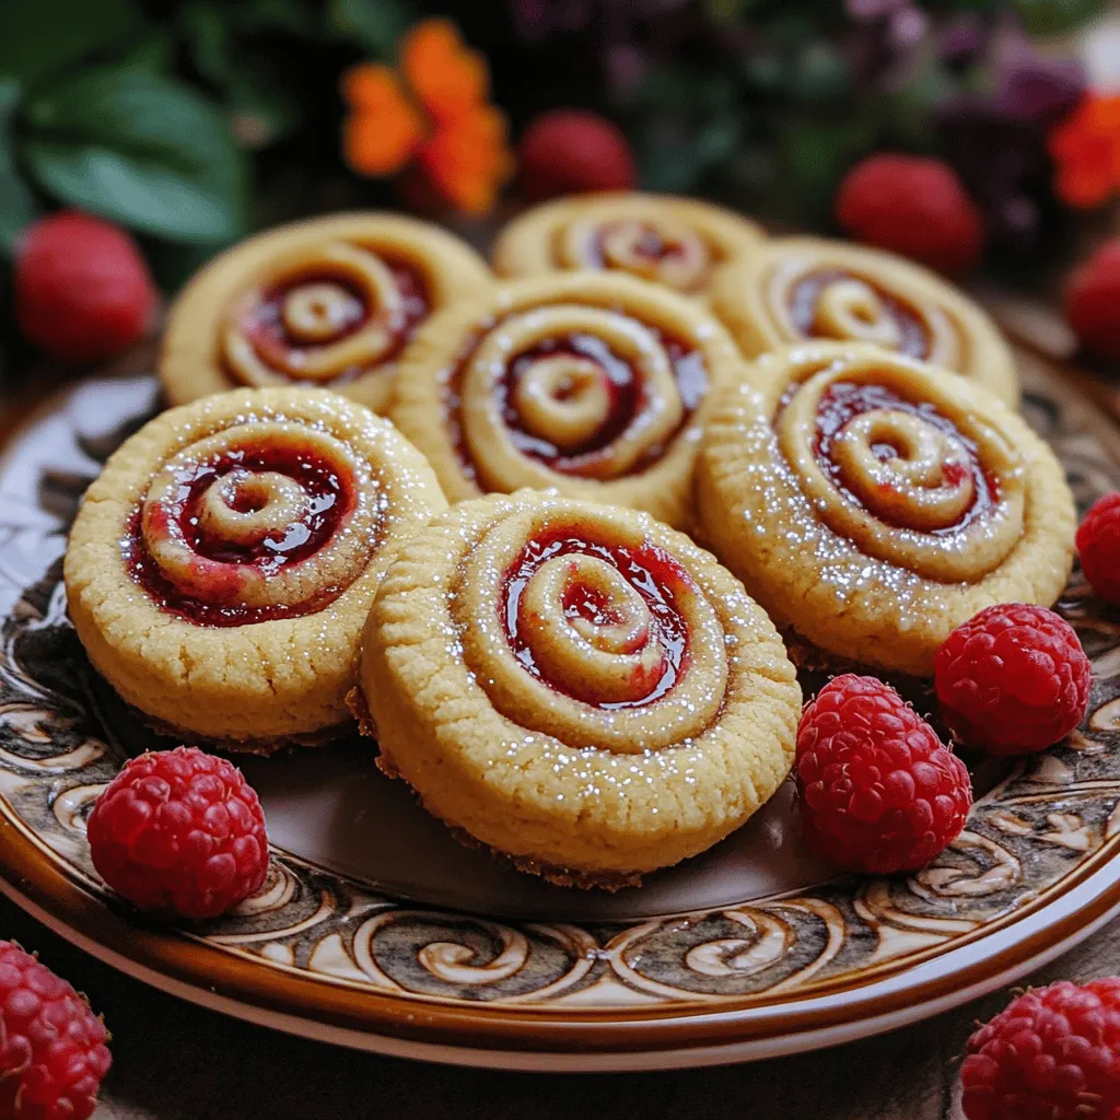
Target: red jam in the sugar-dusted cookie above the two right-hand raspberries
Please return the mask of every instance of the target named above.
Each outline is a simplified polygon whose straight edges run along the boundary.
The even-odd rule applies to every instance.
[[[796,386],[794,386],[794,390]],[[980,454],[976,444],[964,436],[960,429],[948,417],[937,412],[936,408],[928,402],[915,403],[885,385],[853,384],[849,382],[833,382],[824,395],[821,398],[820,410],[816,413],[816,433],[813,440],[813,454],[821,469],[832,479],[833,485],[853,505],[862,507],[859,498],[851,493],[842,483],[840,469],[832,460],[832,441],[839,432],[856,417],[875,409],[888,409],[893,412],[907,412],[918,417],[925,423],[932,424],[945,432],[946,436],[959,440],[969,452],[968,465],[961,463],[946,464],[942,477],[949,485],[961,482],[964,474],[972,472],[972,503],[963,515],[952,525],[944,529],[933,530],[933,535],[956,533],[965,525],[978,517],[990,513],[999,496],[998,486],[995,479],[989,478],[980,465]],[[900,454],[899,448],[893,444],[876,444],[871,448],[876,458],[883,463],[889,463]],[[889,488],[889,484],[885,484]],[[894,524],[898,529],[909,529],[904,522],[892,522],[886,517],[880,517],[886,524]]]

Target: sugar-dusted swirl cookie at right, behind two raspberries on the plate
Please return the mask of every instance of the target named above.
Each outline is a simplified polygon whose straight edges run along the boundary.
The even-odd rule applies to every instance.
[[[1061,594],[1073,497],[987,390],[856,343],[763,355],[752,380],[718,402],[697,500],[706,540],[780,625],[924,675],[982,607]]]

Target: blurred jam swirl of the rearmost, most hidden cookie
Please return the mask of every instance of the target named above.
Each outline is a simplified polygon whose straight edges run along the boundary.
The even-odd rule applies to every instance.
[[[685,292],[702,288],[713,264],[700,233],[668,217],[572,222],[560,256],[567,268],[618,269]]]

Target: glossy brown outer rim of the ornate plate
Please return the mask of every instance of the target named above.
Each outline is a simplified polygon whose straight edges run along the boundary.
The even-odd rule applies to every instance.
[[[28,431],[57,414],[75,389],[86,383],[49,394],[8,433],[0,469]],[[1120,461],[1120,451],[1109,448],[1117,436],[1116,422],[1075,385],[1062,383],[1061,390],[1088,410],[1096,435],[1109,435],[1102,440],[1104,450]],[[0,795],[0,800],[7,810],[7,799]],[[839,991],[740,997],[747,1006],[727,998],[718,1005],[697,999],[648,1007],[569,1008],[558,1015],[547,1006],[489,1006],[347,988],[328,977],[310,979],[263,965],[248,954],[206,944],[189,931],[162,927],[106,904],[83,886],[58,853],[34,838],[15,812],[0,812],[0,841],[3,894],[91,955],[128,974],[144,973],[139,978],[153,987],[202,1006],[221,1002],[217,1009],[224,1014],[305,1037],[326,1033],[332,1035],[326,1040],[395,1056],[501,1068],[668,1068],[744,1061],[865,1037],[993,990],[1072,948],[1120,912],[1120,876],[1113,864],[1120,857],[1118,834],[1094,852],[1091,866],[1079,867],[948,952],[931,948],[896,968],[885,962],[870,968],[866,980],[849,980]],[[1098,883],[1100,889],[1080,897]],[[1056,895],[1048,897],[1051,892]],[[423,905],[432,912],[441,909]],[[1044,914],[1051,921],[1027,937],[1012,937],[996,954],[976,959],[977,942],[1006,935]],[[959,965],[949,967],[958,960]],[[893,981],[927,963],[937,965],[936,976],[889,990]],[[198,986],[202,976],[211,979],[209,990]],[[877,993],[883,987],[888,990]],[[300,998],[293,999],[293,992]],[[804,1006],[822,1000],[833,1006]],[[299,1009],[295,1014],[293,1007]]]

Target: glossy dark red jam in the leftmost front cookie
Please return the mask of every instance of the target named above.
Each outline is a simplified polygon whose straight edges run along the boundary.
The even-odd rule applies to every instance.
[[[237,468],[254,473],[276,472],[293,478],[308,498],[304,517],[289,525],[283,536],[267,536],[249,547],[209,539],[198,516],[203,495],[223,475]],[[179,489],[174,501],[156,507],[156,530],[161,531],[174,522],[197,556],[230,564],[232,569],[251,564],[265,577],[315,556],[338,531],[356,502],[354,480],[345,472],[310,450],[298,451],[291,447],[231,450],[213,463],[185,468],[178,482]],[[233,507],[249,512],[251,500],[239,493]],[[161,609],[181,615],[200,626],[244,626],[271,618],[305,615],[321,609],[345,590],[325,588],[312,599],[296,605],[245,607],[223,604],[228,589],[215,585],[215,601],[208,603],[185,595],[164,576],[144,544],[141,523],[142,508],[138,507],[129,521],[122,545],[129,572]],[[221,578],[217,584],[221,584]],[[231,585],[236,586],[235,570],[231,570]]]

